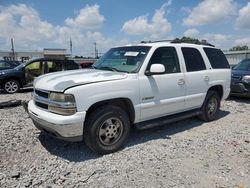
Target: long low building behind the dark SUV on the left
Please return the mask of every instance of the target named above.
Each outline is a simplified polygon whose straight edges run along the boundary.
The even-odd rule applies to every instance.
[[[53,48],[44,48],[43,51],[30,51],[30,52],[16,51],[14,55],[12,51],[0,51],[0,59],[4,60],[15,59],[21,62],[26,62],[30,59],[43,58],[43,57],[64,59],[67,56],[69,56],[69,54],[67,54],[66,49],[53,49]]]

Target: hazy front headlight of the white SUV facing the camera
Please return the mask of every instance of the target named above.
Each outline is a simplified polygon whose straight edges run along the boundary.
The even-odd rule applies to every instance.
[[[51,101],[48,105],[50,112],[61,115],[73,115],[76,113],[76,103],[73,95],[51,92],[49,99]]]

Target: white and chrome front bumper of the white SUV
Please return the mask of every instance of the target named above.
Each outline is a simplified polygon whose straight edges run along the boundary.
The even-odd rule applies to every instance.
[[[46,133],[67,141],[83,140],[83,125],[86,112],[77,112],[71,116],[54,114],[40,109],[31,100],[28,113],[34,125]]]

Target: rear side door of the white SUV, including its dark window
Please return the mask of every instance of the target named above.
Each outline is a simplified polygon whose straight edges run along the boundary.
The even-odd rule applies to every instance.
[[[209,88],[209,70],[207,70],[200,51],[192,47],[181,48],[185,61],[186,98],[185,109],[202,106]]]

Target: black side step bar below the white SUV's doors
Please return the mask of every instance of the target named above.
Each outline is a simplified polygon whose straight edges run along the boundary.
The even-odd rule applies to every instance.
[[[140,123],[136,123],[135,126],[139,130],[149,129],[153,127],[158,127],[162,125],[166,125],[172,122],[180,121],[189,117],[200,115],[202,111],[200,109],[191,110],[187,112],[182,112],[178,114],[173,114],[165,117],[156,118],[153,120],[148,120]]]

